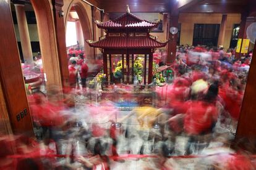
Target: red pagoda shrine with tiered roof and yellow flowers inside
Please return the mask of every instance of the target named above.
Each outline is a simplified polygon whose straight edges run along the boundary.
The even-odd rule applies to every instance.
[[[119,81],[131,84],[136,75],[138,79],[140,77],[141,83],[150,84],[153,52],[168,42],[156,41],[156,37],[150,35],[150,30],[158,26],[159,22],[142,20],[131,14],[127,6],[126,14],[121,17],[95,23],[98,28],[105,30],[106,35],[99,41],[87,40],[87,43],[103,52],[103,70],[108,83]]]

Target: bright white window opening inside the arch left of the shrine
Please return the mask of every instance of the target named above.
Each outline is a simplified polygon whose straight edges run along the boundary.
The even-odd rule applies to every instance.
[[[75,28],[75,22],[67,22],[66,30],[66,46],[77,45],[77,30]]]

